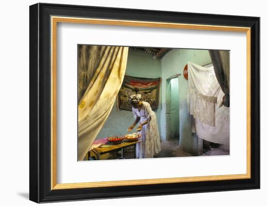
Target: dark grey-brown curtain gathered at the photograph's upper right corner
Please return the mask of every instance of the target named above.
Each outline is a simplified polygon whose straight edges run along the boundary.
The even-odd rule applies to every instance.
[[[209,50],[214,71],[224,93],[223,105],[230,107],[230,52],[226,50]]]

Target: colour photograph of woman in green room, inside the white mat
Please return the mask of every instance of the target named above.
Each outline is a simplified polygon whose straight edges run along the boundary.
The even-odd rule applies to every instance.
[[[230,155],[230,50],[77,52],[78,161]]]

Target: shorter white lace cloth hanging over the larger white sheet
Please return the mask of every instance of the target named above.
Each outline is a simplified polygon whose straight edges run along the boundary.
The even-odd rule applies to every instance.
[[[215,126],[215,104],[220,85],[212,67],[205,68],[188,62],[188,111],[206,125]]]

